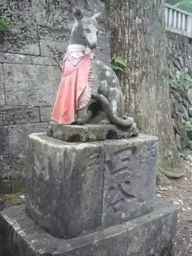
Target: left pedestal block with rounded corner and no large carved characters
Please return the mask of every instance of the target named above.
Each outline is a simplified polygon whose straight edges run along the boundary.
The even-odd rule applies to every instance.
[[[98,228],[103,162],[100,145],[63,143],[45,134],[30,135],[27,209],[33,218],[61,238]]]

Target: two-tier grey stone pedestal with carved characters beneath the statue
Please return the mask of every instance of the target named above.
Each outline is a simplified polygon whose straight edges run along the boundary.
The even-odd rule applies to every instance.
[[[157,146],[31,134],[27,206],[1,212],[1,256],[173,256],[177,209],[154,198]]]

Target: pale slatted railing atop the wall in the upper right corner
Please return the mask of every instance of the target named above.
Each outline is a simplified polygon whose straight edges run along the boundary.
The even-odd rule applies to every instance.
[[[192,38],[192,13],[165,4],[166,30]]]

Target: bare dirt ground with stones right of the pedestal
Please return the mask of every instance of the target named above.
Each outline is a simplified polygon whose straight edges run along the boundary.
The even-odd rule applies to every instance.
[[[186,162],[186,161],[185,161]],[[192,163],[186,162],[184,177],[167,179],[156,187],[156,195],[179,208],[174,256],[192,255]]]

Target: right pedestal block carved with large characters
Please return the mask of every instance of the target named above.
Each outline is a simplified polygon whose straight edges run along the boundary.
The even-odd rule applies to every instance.
[[[154,137],[142,135],[106,144],[101,226],[133,219],[151,209],[157,161]]]

